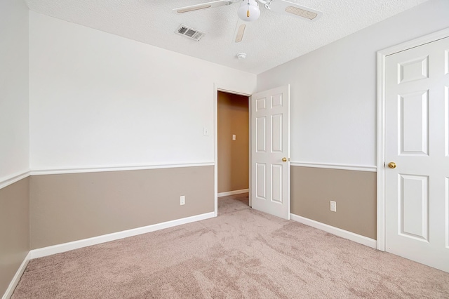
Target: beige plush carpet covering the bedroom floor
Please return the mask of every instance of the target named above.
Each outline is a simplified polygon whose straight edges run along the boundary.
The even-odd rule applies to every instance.
[[[31,260],[12,298],[449,298],[449,273],[236,199],[217,218]]]

